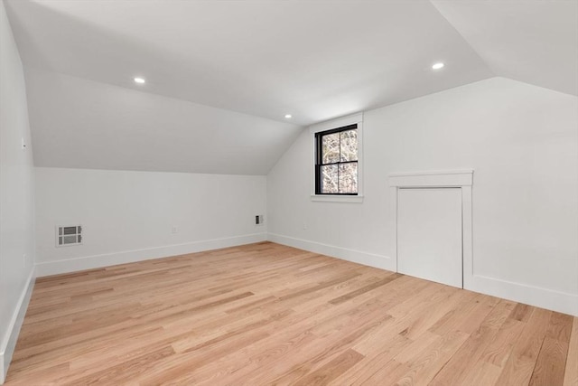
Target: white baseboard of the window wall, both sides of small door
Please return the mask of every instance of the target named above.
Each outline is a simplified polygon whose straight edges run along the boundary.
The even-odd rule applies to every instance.
[[[396,259],[387,256],[335,247],[310,240],[295,239],[275,233],[268,233],[267,240],[370,267],[396,271]],[[464,288],[492,297],[501,297],[517,303],[578,316],[578,295],[575,294],[479,275],[464,278]]]

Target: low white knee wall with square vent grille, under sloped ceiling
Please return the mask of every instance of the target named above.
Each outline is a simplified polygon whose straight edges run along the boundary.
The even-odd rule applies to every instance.
[[[266,240],[256,214],[265,176],[37,167],[37,274]],[[83,244],[56,248],[55,226],[76,224]]]

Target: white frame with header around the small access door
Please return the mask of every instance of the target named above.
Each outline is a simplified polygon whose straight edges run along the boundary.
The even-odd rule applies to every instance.
[[[403,188],[461,188],[461,269],[463,288],[473,279],[471,188],[473,169],[389,174],[389,212],[394,216],[394,249],[397,272],[397,193]]]

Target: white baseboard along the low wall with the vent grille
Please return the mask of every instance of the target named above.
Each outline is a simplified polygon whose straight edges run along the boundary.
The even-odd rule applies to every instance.
[[[133,263],[148,259],[159,259],[168,256],[184,255],[210,249],[236,247],[253,242],[266,241],[266,233],[253,233],[243,236],[233,236],[223,239],[201,240],[184,244],[166,245],[163,247],[123,250],[121,252],[102,255],[85,256],[76,259],[64,259],[36,263],[36,275],[58,275],[84,269],[102,268],[117,264]]]

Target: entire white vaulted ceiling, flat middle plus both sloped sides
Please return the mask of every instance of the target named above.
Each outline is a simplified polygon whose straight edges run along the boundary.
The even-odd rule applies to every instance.
[[[578,95],[578,0],[5,4],[36,165],[266,174],[305,125],[473,81]]]

